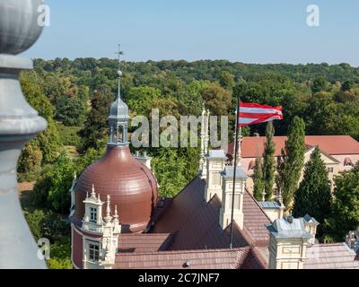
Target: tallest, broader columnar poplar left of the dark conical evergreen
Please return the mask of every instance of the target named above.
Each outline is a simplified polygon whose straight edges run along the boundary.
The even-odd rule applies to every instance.
[[[305,124],[302,118],[294,117],[276,168],[276,187],[282,192],[286,210],[291,209],[294,192],[298,187],[304,166],[304,137]]]

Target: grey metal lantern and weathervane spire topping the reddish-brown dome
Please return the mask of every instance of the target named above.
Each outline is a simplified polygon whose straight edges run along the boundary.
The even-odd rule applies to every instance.
[[[127,104],[121,99],[121,77],[122,72],[120,70],[120,57],[124,53],[118,45],[118,95],[114,103],[112,103],[109,109],[109,145],[128,145],[127,142],[127,123],[129,119],[129,111]]]

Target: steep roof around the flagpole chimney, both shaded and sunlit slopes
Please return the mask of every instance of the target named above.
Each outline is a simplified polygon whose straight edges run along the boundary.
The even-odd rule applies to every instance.
[[[171,233],[176,236],[169,249],[227,248],[229,232],[219,225],[221,201],[214,196],[205,200],[205,181],[195,178],[162,213],[151,232]],[[265,224],[271,222],[249,192],[243,199],[244,229],[235,224],[233,246],[267,246],[269,236]]]

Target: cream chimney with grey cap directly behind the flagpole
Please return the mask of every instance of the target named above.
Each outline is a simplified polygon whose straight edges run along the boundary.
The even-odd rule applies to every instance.
[[[233,175],[234,167],[226,167],[222,173],[222,207],[220,212],[220,224],[223,230],[232,222],[232,199],[233,199]],[[243,196],[247,175],[239,166],[236,170],[233,220],[243,229]]]

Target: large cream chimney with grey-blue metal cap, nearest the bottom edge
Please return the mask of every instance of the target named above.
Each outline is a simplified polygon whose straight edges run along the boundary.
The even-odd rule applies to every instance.
[[[269,231],[269,269],[302,269],[312,235],[302,218],[285,216],[266,224]]]

